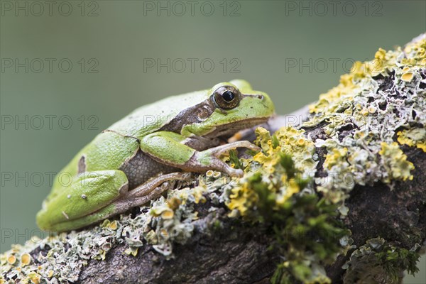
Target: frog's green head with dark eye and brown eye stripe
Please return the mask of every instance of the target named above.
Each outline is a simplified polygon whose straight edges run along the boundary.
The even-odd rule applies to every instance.
[[[231,136],[268,121],[274,113],[268,94],[253,90],[244,80],[216,84],[205,96],[204,102],[192,108],[192,123],[182,126],[182,135]]]

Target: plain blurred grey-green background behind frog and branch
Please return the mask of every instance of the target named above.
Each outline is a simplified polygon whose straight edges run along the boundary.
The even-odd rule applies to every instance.
[[[426,30],[425,1],[51,3],[1,1],[1,251],[42,234],[51,173],[132,109],[244,78],[289,113]]]

